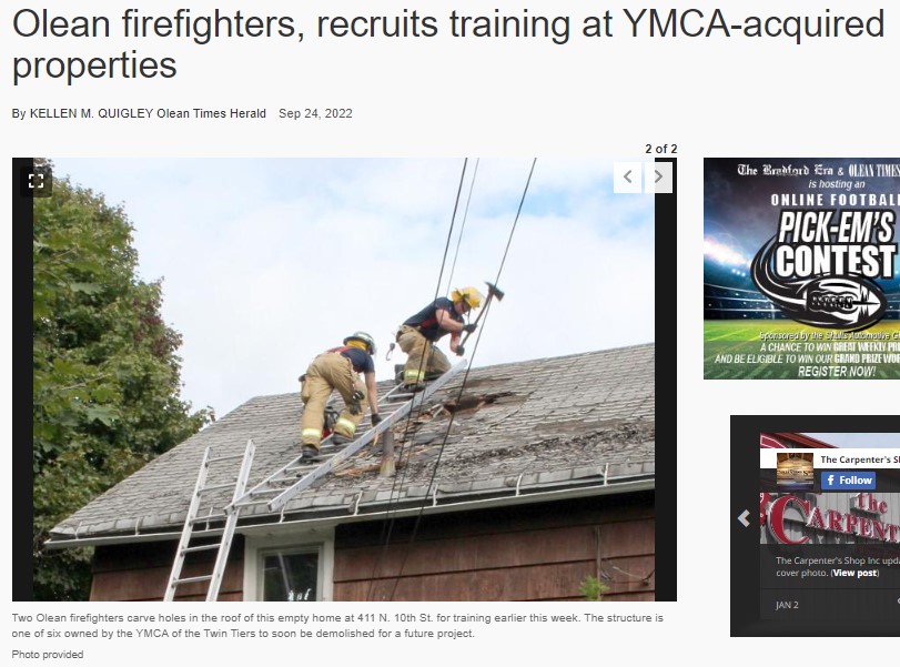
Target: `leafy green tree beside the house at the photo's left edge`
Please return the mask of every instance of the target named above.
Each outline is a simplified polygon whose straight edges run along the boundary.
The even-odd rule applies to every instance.
[[[90,549],[49,530],[211,420],[180,398],[181,345],[160,282],[135,275],[133,228],[101,194],[57,179],[34,200],[34,598],[87,599]]]

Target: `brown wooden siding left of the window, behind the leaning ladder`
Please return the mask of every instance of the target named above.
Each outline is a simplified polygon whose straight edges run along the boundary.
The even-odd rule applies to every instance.
[[[201,544],[195,542],[193,544]],[[172,542],[99,546],[94,552],[91,600],[161,600],[169,583],[172,562],[175,557]],[[215,552],[191,554],[182,569],[182,576],[199,576],[212,573]],[[244,584],[244,544],[240,535],[234,537],[231,558],[220,588],[220,600],[242,600]],[[206,583],[199,582],[179,586],[176,600],[202,602],[206,597]]]

